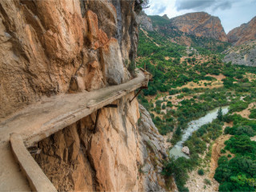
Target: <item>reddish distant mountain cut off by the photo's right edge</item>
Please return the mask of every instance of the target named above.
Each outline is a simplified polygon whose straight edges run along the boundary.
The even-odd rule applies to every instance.
[[[227,34],[229,42],[235,46],[242,45],[244,42],[256,39],[256,16],[250,22],[230,30]]]

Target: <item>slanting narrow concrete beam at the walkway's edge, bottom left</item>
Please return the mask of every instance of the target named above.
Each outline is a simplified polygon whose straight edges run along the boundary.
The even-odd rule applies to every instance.
[[[30,152],[26,150],[21,135],[10,134],[10,146],[23,174],[26,175],[30,183],[31,190],[57,192],[54,185],[46,177],[46,174],[44,174],[40,166],[38,166],[38,163],[34,161]]]

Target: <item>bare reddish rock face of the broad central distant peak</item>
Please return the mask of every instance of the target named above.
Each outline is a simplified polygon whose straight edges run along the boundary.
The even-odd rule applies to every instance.
[[[171,18],[170,26],[187,34],[227,42],[226,33],[220,19],[204,12],[184,14]]]

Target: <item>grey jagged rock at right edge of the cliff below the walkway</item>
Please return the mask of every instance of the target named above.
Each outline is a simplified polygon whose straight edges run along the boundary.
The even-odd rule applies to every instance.
[[[161,165],[162,159],[166,158],[166,150],[162,135],[154,126],[149,112],[139,105],[141,113],[139,126],[140,151],[141,151],[141,177],[144,182],[143,191],[165,191],[165,182],[162,178],[162,168],[154,165]],[[158,182],[151,182],[158,181]]]

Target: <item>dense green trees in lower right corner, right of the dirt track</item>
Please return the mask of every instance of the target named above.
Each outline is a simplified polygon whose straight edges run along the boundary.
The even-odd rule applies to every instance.
[[[227,126],[225,134],[234,135],[225,142],[225,150],[235,157],[222,156],[214,178],[220,182],[219,191],[255,191],[256,181],[256,142],[250,140],[256,134],[256,121],[229,115],[233,127]]]

